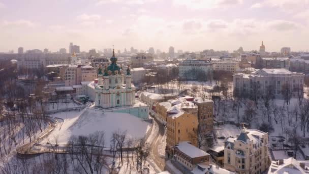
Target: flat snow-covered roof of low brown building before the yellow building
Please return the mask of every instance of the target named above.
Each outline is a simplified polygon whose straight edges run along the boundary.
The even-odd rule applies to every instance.
[[[188,155],[190,158],[198,158],[209,155],[207,152],[193,146],[188,141],[179,142],[178,145],[176,145],[176,148],[182,153]]]

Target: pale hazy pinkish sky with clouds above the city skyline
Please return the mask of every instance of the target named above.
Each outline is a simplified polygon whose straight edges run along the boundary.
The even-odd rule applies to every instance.
[[[0,0],[0,52],[309,50],[309,0]]]

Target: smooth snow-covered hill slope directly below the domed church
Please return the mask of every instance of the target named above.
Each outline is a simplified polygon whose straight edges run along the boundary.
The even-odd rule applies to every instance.
[[[142,138],[150,128],[144,122],[128,113],[105,112],[85,108],[82,111],[70,111],[52,114],[52,117],[64,119],[63,124],[45,139],[46,142],[67,144],[72,135],[88,135],[96,131],[104,131],[105,146],[110,146],[110,137],[113,132],[127,131],[127,138]]]

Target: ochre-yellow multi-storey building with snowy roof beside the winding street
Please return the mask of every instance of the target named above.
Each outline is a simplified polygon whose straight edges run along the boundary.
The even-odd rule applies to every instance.
[[[181,109],[181,105],[174,105],[167,110],[166,149],[169,154],[173,153],[173,147],[181,141],[191,141],[197,146],[198,119],[196,115]]]

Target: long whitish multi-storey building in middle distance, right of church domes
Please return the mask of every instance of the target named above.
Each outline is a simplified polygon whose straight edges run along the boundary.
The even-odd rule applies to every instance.
[[[212,73],[211,61],[185,60],[179,62],[180,79],[197,79],[199,74],[207,76],[209,73]]]

